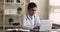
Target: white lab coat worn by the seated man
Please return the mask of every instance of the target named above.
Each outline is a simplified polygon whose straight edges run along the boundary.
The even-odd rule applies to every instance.
[[[34,26],[40,26],[41,24],[41,20],[37,15],[30,16],[29,14],[25,14],[22,20],[22,27],[26,29],[33,29]]]

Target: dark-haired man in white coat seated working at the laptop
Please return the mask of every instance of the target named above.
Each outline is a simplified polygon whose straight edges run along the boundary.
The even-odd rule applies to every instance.
[[[33,2],[28,4],[28,12],[23,16],[23,28],[39,29],[41,21],[39,16],[35,14],[37,5]]]

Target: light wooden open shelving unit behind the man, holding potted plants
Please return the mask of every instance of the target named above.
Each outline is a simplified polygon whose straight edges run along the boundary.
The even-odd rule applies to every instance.
[[[10,0],[9,0],[10,1]],[[13,2],[6,2],[5,0],[0,0],[0,10],[2,12],[0,12],[0,28],[3,29],[3,32],[5,31],[5,28],[21,28],[21,25],[19,26],[13,26],[13,25],[8,25],[8,19],[10,17],[12,17],[13,19],[15,19],[14,21],[21,21],[21,16],[23,15],[23,13],[25,13],[25,6],[27,6],[27,2],[25,2],[26,0],[21,0],[20,3],[17,3],[16,0],[13,0]],[[22,12],[21,14],[18,14],[17,12],[17,8],[18,7],[22,7]],[[11,9],[11,10],[9,10]],[[7,12],[6,12],[7,11]],[[10,12],[11,13],[10,13]],[[16,11],[16,13],[14,12]],[[20,22],[21,23],[21,22]]]

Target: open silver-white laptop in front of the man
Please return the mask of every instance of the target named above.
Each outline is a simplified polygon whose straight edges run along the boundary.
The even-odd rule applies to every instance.
[[[52,29],[52,21],[42,20],[39,31],[50,31]]]

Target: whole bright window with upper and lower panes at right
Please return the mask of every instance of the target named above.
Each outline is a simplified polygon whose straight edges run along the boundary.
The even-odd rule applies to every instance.
[[[53,20],[53,23],[60,25],[60,0],[49,0],[50,1],[50,13],[49,19]]]

